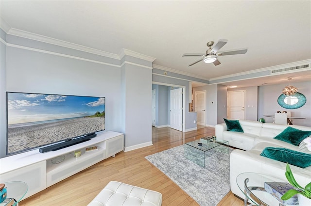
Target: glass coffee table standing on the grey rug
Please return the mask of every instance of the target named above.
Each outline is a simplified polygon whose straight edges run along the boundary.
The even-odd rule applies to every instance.
[[[219,147],[220,145],[226,146]],[[184,155],[187,159],[205,168],[205,166],[208,165],[208,157],[215,155],[215,151],[212,150],[215,150],[216,148],[217,152],[225,152],[229,154],[228,141],[213,140],[212,137],[203,137],[200,140],[186,143],[184,146]]]

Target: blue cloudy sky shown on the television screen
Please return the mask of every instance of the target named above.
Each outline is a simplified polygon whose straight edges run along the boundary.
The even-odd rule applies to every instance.
[[[105,111],[103,97],[7,93],[8,125],[85,117]]]

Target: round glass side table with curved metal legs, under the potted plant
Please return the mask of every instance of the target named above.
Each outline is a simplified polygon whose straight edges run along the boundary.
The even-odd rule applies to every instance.
[[[265,182],[287,182],[286,180],[266,174],[242,173],[237,176],[236,181],[245,195],[244,206],[249,200],[255,206],[289,206],[283,205],[264,188]]]

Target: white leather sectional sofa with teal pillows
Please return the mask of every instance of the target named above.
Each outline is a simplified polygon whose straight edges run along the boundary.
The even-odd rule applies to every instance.
[[[230,186],[231,191],[244,198],[244,194],[236,183],[236,178],[241,173],[253,172],[268,174],[287,182],[285,177],[286,163],[260,156],[266,147],[283,147],[294,151],[300,151],[299,146],[276,140],[274,137],[287,127],[294,127],[304,131],[311,131],[311,127],[278,125],[272,123],[260,123],[249,120],[239,120],[242,132],[227,131],[226,124],[218,124],[215,127],[217,139],[226,140],[230,146],[239,148],[230,155]],[[311,166],[300,168],[291,165],[297,182],[305,186],[311,182]]]

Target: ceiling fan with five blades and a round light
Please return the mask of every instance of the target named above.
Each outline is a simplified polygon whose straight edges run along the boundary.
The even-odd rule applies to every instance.
[[[218,51],[219,49],[224,47],[227,42],[228,40],[226,39],[220,39],[213,48],[212,46],[214,45],[214,42],[213,41],[207,42],[207,47],[209,48],[206,50],[205,54],[186,53],[183,54],[183,57],[201,57],[199,60],[190,63],[188,66],[192,66],[193,64],[199,63],[201,61],[203,61],[204,63],[214,63],[214,65],[217,66],[221,64],[217,59],[218,56],[245,54],[247,52],[247,48],[234,49],[228,51]]]

